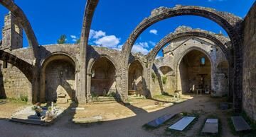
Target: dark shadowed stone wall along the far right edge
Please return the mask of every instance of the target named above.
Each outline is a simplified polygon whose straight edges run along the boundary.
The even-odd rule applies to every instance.
[[[242,107],[256,120],[256,3],[244,20]]]

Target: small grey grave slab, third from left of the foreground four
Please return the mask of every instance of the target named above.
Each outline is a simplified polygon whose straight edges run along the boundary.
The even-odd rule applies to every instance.
[[[207,119],[202,133],[218,133],[218,119]]]

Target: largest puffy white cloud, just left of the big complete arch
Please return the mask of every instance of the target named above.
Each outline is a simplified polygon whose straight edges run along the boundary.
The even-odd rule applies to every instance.
[[[98,44],[101,47],[117,48],[117,45],[120,42],[120,39],[114,35],[104,36],[100,39],[94,41],[95,44]]]

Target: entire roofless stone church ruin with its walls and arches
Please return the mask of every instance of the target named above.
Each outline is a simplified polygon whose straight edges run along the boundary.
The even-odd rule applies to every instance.
[[[208,93],[228,96],[236,112],[255,119],[256,4],[244,19],[212,8],[180,6],[156,8],[134,28],[122,50],[88,44],[98,0],[87,0],[80,44],[40,45],[33,26],[14,1],[3,18],[0,50],[0,97],[27,95],[28,101],[93,102],[113,95],[127,102],[130,95]],[[176,16],[201,16],[228,33],[180,26],[163,37],[149,54],[131,54],[137,37],[154,23]],[[23,30],[29,48],[23,46]],[[156,59],[163,52],[164,56]]]

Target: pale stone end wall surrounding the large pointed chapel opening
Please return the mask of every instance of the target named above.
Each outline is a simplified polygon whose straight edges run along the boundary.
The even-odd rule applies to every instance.
[[[210,58],[212,68],[210,70],[211,73],[209,78],[211,79],[211,83],[208,81],[207,85],[211,85],[213,95],[223,96],[228,94],[228,71],[226,68],[223,68],[223,65],[219,65],[223,62],[228,62],[228,60],[220,47],[216,46],[210,40],[202,37],[182,37],[180,39],[173,40],[171,44],[164,48],[164,57],[155,61],[156,68],[161,68],[161,66],[169,66],[172,71],[166,75],[168,80],[167,83],[165,85],[161,83],[159,84],[158,82],[153,83],[150,87],[151,92],[161,90],[163,92],[164,90],[166,93],[174,94],[176,90],[180,90],[181,83],[178,83],[178,80],[181,78],[181,76],[179,75],[180,72],[178,72],[178,65],[180,64],[183,56],[191,51],[191,49],[203,51],[206,56]],[[199,61],[200,59],[198,59],[198,62]],[[220,68],[217,66],[220,66]],[[161,72],[161,70],[159,71]],[[194,69],[194,71],[200,70]],[[187,71],[181,73],[185,74],[185,72]],[[165,76],[163,73],[160,74],[161,77]],[[220,83],[220,81],[222,82]],[[183,82],[186,83],[186,81]]]

